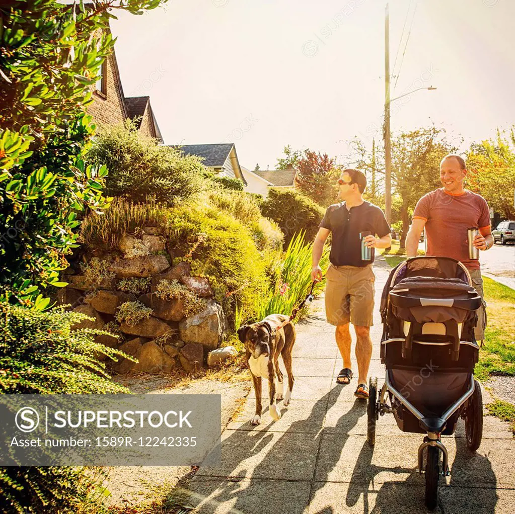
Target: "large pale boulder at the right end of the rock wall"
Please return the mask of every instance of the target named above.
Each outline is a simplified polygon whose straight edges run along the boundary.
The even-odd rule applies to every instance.
[[[207,349],[214,350],[221,342],[225,327],[224,311],[211,301],[202,312],[182,320],[179,333],[185,343],[202,343]]]

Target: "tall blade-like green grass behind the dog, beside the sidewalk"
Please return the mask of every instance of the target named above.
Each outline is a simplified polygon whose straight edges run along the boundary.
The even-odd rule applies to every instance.
[[[258,320],[269,314],[290,315],[294,307],[311,289],[313,243],[306,244],[304,231],[291,239],[281,263],[275,285],[262,297],[256,299],[255,313]],[[320,267],[325,272],[329,265],[329,247],[325,247]],[[325,278],[317,282],[315,293],[323,290]]]

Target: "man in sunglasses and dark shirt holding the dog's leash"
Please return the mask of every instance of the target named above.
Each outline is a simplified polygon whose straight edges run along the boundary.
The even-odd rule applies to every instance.
[[[372,326],[374,310],[374,280],[372,270],[374,248],[387,248],[391,244],[390,226],[383,211],[363,200],[367,186],[366,176],[358,170],[346,169],[338,180],[338,200],[331,205],[319,225],[313,244],[313,280],[322,279],[318,263],[325,240],[332,234],[331,264],[326,273],[325,313],[327,321],[336,326],[336,343],[344,360],[344,367],[336,381],[348,384],[352,379],[351,334],[349,323],[356,331],[356,360],[358,386],[355,396],[368,398],[367,375],[372,357]],[[371,249],[371,260],[362,260],[360,234]],[[379,236],[379,237],[376,237]]]

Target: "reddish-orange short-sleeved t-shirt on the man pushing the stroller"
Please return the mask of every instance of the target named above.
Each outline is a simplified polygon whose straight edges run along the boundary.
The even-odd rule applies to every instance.
[[[452,257],[471,270],[479,269],[479,260],[469,259],[467,229],[490,226],[490,209],[482,196],[468,189],[458,195],[435,189],[417,202],[417,218],[426,221],[426,255]]]

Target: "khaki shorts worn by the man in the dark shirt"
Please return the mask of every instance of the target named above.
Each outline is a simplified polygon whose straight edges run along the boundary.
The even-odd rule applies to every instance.
[[[325,277],[327,321],[335,326],[350,322],[357,327],[371,327],[375,292],[372,264],[363,268],[330,264]]]

